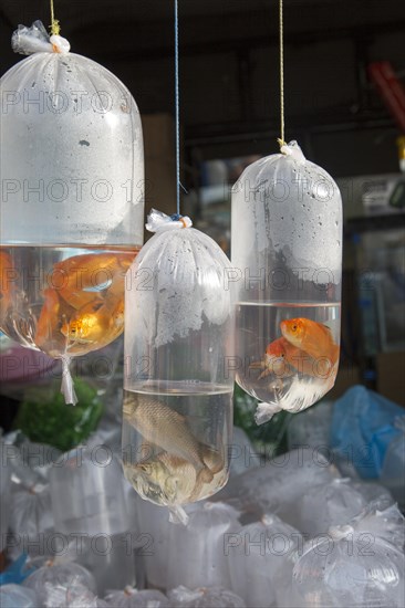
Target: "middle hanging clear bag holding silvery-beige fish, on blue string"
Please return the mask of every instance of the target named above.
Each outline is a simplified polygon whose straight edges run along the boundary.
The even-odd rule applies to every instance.
[[[125,298],[124,471],[177,521],[227,482],[232,432],[230,263],[190,226],[152,211]]]

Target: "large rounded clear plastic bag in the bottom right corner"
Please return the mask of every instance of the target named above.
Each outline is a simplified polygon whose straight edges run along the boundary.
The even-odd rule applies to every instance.
[[[302,608],[404,606],[405,556],[394,545],[351,525],[308,543],[293,569]]]

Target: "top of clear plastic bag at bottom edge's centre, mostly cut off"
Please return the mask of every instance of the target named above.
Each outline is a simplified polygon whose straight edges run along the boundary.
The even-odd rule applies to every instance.
[[[245,608],[246,604],[233,591],[222,587],[188,589],[180,585],[167,594],[170,606],[178,608]]]

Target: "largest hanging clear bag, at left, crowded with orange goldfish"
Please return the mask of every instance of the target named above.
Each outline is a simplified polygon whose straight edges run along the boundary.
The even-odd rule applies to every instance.
[[[0,327],[63,364],[124,327],[124,276],[143,243],[141,117],[105,67],[40,21],[19,27],[30,57],[0,81],[3,180]]]

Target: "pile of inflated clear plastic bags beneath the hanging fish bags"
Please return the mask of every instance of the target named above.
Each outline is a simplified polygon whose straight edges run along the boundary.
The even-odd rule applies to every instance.
[[[30,551],[15,580],[1,575],[1,606],[403,608],[405,525],[390,492],[342,478],[324,449],[266,461],[236,437],[228,485],[188,505],[187,526],[128,491],[113,429],[66,454],[6,437],[8,555],[21,538]],[[92,551],[103,534],[117,543],[104,557]]]

